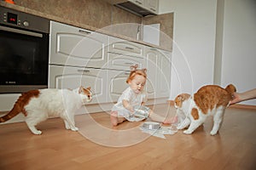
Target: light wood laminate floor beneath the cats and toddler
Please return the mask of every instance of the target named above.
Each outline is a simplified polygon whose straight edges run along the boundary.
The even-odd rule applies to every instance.
[[[167,104],[154,111],[175,114]],[[166,139],[142,133],[142,122],[112,127],[106,112],[76,116],[76,123],[80,133],[49,119],[38,125],[42,135],[25,122],[0,125],[0,169],[256,169],[255,110],[229,108],[216,136],[211,118],[191,135]]]

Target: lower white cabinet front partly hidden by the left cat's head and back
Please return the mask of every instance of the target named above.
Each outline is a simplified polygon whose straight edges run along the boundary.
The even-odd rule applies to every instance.
[[[49,65],[49,88],[89,87],[94,92],[88,104],[105,103],[107,71],[83,67]]]

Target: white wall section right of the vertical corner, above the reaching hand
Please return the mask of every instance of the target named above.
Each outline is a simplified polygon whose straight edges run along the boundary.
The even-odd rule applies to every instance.
[[[256,1],[225,0],[222,85],[256,88]],[[256,105],[256,99],[241,104]]]

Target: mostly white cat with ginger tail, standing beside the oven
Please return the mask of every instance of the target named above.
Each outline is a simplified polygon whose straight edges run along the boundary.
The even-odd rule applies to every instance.
[[[0,122],[6,122],[22,112],[26,116],[26,125],[31,132],[41,134],[42,132],[35,126],[50,116],[57,116],[64,120],[67,129],[78,131],[75,127],[74,113],[84,105],[84,102],[90,102],[91,99],[90,87],[73,90],[54,88],[31,90],[20,95],[13,109],[7,115],[0,117]]]

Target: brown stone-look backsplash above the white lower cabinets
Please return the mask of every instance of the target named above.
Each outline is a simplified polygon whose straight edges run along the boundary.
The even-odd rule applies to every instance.
[[[114,7],[102,0],[15,0],[15,4],[30,8],[46,15],[53,15],[62,20],[68,20],[67,24],[75,26],[87,25],[96,29],[112,31],[116,34],[137,39],[141,35],[137,32],[140,24],[150,25],[160,23],[160,46],[172,50],[173,14],[160,14],[151,17],[139,17],[121,8]],[[77,23],[77,24],[76,24]],[[123,26],[124,23],[137,23]],[[110,29],[110,26],[114,26]],[[139,28],[140,29],[140,28]],[[141,31],[141,30],[139,30]],[[166,36],[163,36],[166,35]]]

